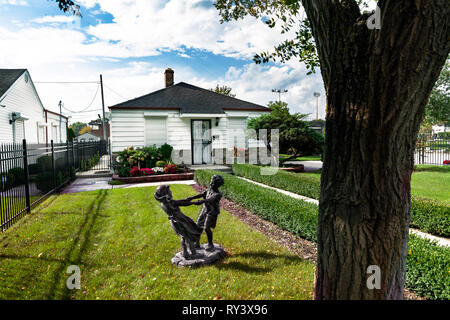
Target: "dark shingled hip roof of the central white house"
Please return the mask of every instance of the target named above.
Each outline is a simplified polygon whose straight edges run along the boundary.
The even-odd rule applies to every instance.
[[[223,114],[224,110],[270,112],[270,109],[267,107],[199,88],[185,82],[177,83],[109,108],[179,110],[181,113],[208,114]]]

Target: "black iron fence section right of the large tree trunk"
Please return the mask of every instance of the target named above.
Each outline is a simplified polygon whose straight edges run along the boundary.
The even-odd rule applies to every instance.
[[[414,153],[415,164],[444,165],[450,161],[450,136],[420,135]]]

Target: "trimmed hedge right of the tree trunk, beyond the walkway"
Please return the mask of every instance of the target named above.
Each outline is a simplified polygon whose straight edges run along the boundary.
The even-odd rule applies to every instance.
[[[450,206],[438,200],[411,197],[411,227],[450,237]]]

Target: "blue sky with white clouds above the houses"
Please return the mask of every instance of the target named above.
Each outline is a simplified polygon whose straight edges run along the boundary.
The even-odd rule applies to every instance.
[[[62,101],[72,123],[101,113],[100,74],[108,107],[162,89],[169,67],[175,83],[226,85],[236,98],[261,105],[278,100],[272,89],[288,90],[281,100],[291,112],[314,117],[313,94],[319,92],[324,118],[320,70],[307,75],[296,60],[253,62],[256,53],[292,36],[261,19],[221,24],[210,0],[75,2],[81,18],[63,13],[52,0],[0,0],[0,68],[28,69],[44,107],[59,111]]]

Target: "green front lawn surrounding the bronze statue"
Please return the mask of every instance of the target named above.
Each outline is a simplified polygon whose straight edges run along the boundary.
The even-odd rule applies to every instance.
[[[195,194],[185,185],[171,189],[175,198]],[[51,196],[0,235],[0,299],[312,298],[314,264],[226,211],[214,235],[231,255],[214,266],[174,267],[179,238],[154,191]],[[198,210],[183,208],[191,217]],[[81,290],[65,286],[73,264],[81,268]]]

